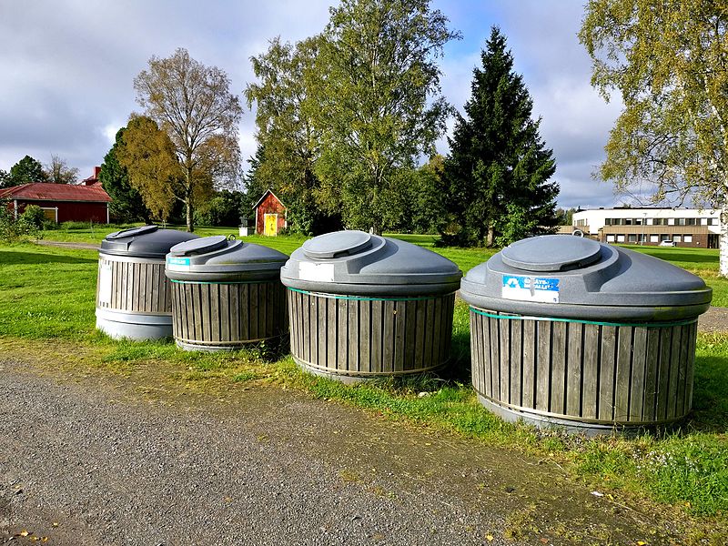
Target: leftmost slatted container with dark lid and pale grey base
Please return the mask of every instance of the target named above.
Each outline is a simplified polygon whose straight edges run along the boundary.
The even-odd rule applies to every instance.
[[[165,278],[169,248],[196,235],[157,226],[132,227],[104,238],[98,251],[96,328],[115,339],[172,335],[172,300]]]

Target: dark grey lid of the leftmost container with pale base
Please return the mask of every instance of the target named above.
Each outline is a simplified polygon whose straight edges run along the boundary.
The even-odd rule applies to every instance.
[[[107,235],[101,241],[99,252],[129,258],[164,259],[169,248],[197,238],[194,233],[177,229],[159,229],[157,226],[132,227]]]

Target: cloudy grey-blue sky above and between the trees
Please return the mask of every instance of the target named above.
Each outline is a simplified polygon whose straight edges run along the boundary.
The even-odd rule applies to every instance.
[[[319,33],[335,0],[0,0],[0,169],[25,155],[43,164],[62,157],[79,177],[93,173],[139,112],[134,77],[149,57],[185,47],[204,65],[227,72],[231,92],[255,81],[250,57],[279,35],[296,42]],[[462,39],[440,59],[443,95],[462,112],[472,70],[498,25],[516,72],[541,117],[541,137],[557,162],[560,207],[611,207],[621,203],[609,183],[591,176],[619,101],[606,104],[590,85],[591,60],[577,33],[583,0],[432,0]],[[240,123],[243,157],[255,154],[255,112],[245,105]],[[453,126],[450,119],[449,130]],[[437,143],[449,151],[447,135]]]

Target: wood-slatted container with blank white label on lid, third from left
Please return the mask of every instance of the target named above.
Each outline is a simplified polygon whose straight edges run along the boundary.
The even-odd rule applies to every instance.
[[[363,231],[312,238],[280,270],[299,366],[352,382],[450,359],[462,273],[426,248]]]

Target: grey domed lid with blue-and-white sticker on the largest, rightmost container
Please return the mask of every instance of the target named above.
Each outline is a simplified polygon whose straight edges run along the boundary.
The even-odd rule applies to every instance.
[[[662,259],[591,239],[522,239],[470,269],[460,294],[491,311],[545,318],[653,322],[710,307],[702,278]]]

